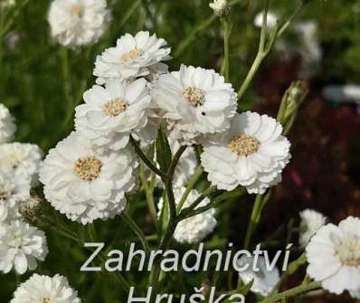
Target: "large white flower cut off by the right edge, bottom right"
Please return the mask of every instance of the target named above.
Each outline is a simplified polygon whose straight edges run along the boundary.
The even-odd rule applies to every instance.
[[[360,219],[321,227],[307,246],[308,275],[337,295],[360,289]]]

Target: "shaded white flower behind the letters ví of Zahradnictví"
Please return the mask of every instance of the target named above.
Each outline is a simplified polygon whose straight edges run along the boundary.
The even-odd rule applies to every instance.
[[[247,270],[239,272],[240,278],[245,284],[249,284],[253,279],[251,291],[259,293],[263,297],[269,295],[279,282],[279,270],[276,267],[270,269],[262,256],[259,256],[256,264],[254,257],[242,256],[240,260],[237,260],[237,265],[239,268],[247,266]]]

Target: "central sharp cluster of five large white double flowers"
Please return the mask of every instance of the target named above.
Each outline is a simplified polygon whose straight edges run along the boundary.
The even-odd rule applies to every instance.
[[[168,72],[170,58],[166,41],[148,32],[127,33],[97,57],[97,84],[75,109],[76,131],[49,152],[41,172],[46,199],[72,221],[92,223],[124,210],[137,185],[130,138],[149,145],[160,127],[173,154],[180,146],[204,146],[201,165],[219,189],[242,185],[262,194],[279,183],[290,158],[279,123],[237,114],[237,95],[223,76],[185,65]],[[174,187],[183,189],[198,165],[188,147]]]

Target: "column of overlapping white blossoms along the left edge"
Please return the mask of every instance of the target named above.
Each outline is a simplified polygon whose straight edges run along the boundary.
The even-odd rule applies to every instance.
[[[48,253],[44,232],[24,223],[20,213],[38,183],[42,152],[33,144],[9,143],[14,130],[14,118],[0,104],[0,271],[24,274]]]

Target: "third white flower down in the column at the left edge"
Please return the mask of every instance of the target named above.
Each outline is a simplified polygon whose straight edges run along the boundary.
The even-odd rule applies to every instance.
[[[24,178],[14,183],[9,175],[0,174],[0,223],[19,217],[21,202],[30,196],[30,184]]]

